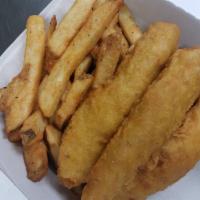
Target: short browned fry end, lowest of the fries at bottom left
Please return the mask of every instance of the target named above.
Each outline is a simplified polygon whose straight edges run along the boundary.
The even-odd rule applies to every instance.
[[[25,147],[24,161],[27,177],[36,182],[40,181],[48,172],[47,148],[43,142]]]

